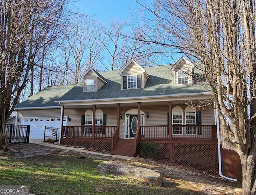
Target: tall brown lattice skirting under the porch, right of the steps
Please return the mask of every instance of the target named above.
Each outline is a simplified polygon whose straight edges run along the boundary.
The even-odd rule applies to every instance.
[[[158,146],[155,159],[218,174],[218,144],[208,140],[140,140],[136,154],[140,154],[143,142],[154,142]]]

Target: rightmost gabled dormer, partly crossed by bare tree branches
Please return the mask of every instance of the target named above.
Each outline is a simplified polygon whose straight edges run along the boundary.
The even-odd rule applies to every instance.
[[[172,67],[174,86],[192,85],[194,74],[194,64],[186,58],[181,57]]]

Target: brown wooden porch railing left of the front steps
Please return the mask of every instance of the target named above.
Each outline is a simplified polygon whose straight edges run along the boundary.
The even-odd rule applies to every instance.
[[[111,138],[116,126],[95,126],[95,138]],[[63,126],[63,138],[92,138],[92,125]]]

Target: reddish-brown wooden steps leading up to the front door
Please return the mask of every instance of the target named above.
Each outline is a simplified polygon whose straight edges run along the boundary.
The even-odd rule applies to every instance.
[[[111,154],[134,157],[134,139],[118,139]]]

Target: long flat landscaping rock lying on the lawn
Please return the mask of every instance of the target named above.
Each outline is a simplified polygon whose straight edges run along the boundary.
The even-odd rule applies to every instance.
[[[133,179],[142,180],[154,185],[162,185],[163,175],[142,167],[136,167],[127,163],[115,161],[103,161],[98,165],[98,171],[105,174],[126,175]]]

